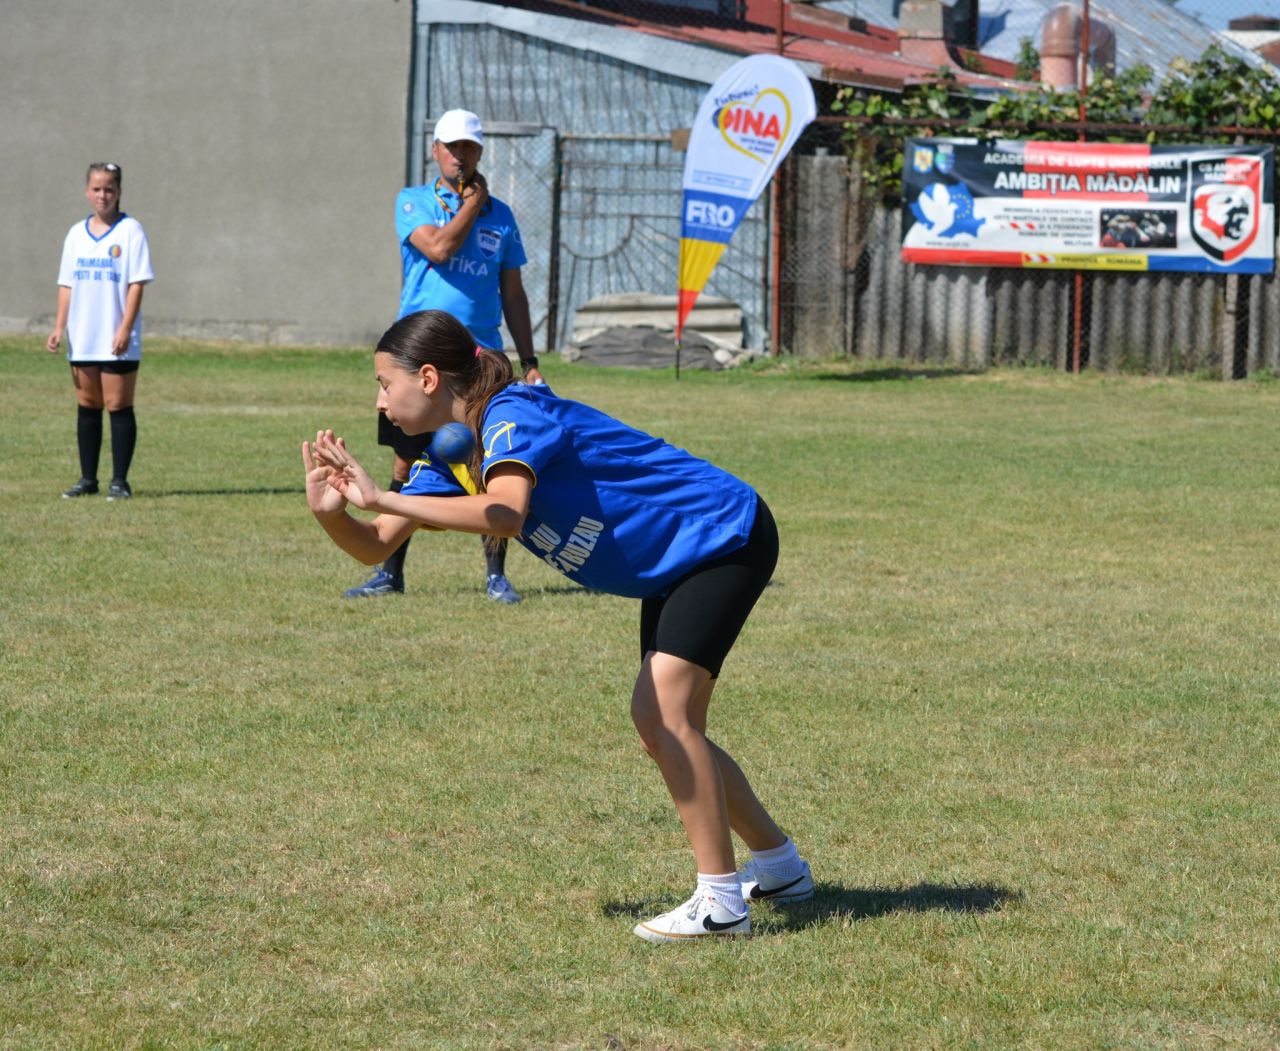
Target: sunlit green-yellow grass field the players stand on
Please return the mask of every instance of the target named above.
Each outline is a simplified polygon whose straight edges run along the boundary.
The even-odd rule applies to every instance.
[[[302,495],[367,352],[148,343],[136,498],[0,342],[0,1047],[1280,1046],[1280,384],[548,365],[767,497],[714,736],[818,895],[632,937],[691,860],[635,603]],[[104,451],[104,477],[109,474]]]

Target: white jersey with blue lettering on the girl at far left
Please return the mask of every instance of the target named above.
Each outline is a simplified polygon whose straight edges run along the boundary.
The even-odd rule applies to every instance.
[[[129,349],[111,353],[115,332],[124,320],[124,301],[131,284],[155,279],[151,252],[142,224],[124,213],[106,233],[93,237],[88,219],[77,223],[63,242],[58,283],[72,291],[67,319],[67,360],[138,361],[142,357],[142,311],[133,321]]]

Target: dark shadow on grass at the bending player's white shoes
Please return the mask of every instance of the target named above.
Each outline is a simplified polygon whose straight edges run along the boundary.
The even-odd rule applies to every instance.
[[[915,883],[910,887],[842,887],[838,883],[814,886],[812,901],[758,913],[753,927],[760,933],[799,931],[832,919],[876,919],[890,913],[993,913],[1023,892],[995,883]],[[678,901],[609,901],[600,910],[605,917],[643,919],[666,911]]]

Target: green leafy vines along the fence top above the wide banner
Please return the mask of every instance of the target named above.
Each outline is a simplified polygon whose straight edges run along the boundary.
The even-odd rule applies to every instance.
[[[1021,58],[1030,60],[1030,42]],[[1164,83],[1149,91],[1152,70],[1137,65],[1096,76],[1084,92],[1085,114],[1097,124],[1143,124],[1144,132],[1117,134],[1100,128],[1091,141],[1224,142],[1224,127],[1280,131],[1280,79],[1268,70],[1210,47],[1198,61],[1176,63]],[[845,143],[870,196],[895,205],[902,192],[902,142],[934,134],[975,138],[1074,140],[1079,91],[1036,90],[979,99],[941,69],[927,83],[901,95],[841,88],[832,110],[851,118]],[[905,123],[904,123],[905,122]],[[936,124],[931,123],[936,122]],[[1178,131],[1161,125],[1178,125]]]

